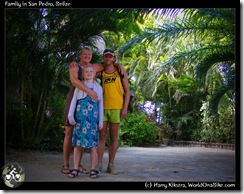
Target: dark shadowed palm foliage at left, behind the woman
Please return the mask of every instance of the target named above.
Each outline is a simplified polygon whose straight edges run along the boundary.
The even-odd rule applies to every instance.
[[[139,30],[134,17],[134,9],[6,10],[8,140],[41,144],[47,131],[59,129],[69,89],[67,63],[84,45],[97,51],[96,41],[106,30]],[[46,117],[47,108],[56,119]]]

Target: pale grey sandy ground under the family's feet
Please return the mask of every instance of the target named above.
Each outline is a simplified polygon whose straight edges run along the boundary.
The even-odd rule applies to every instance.
[[[60,169],[63,154],[61,152],[7,149],[5,156],[6,164],[17,162],[25,170],[25,182],[19,189],[22,189],[21,187],[28,189],[31,184],[34,185],[34,190],[45,189],[48,185],[51,185],[54,190],[127,190],[131,186],[143,190],[148,186],[147,184],[153,183],[151,189],[154,187],[163,190],[163,187],[166,189],[165,185],[167,189],[169,187],[187,189],[191,182],[238,183],[236,177],[240,169],[236,165],[240,161],[236,159],[235,151],[226,149],[164,145],[120,147],[115,158],[118,175],[110,175],[106,172],[108,162],[106,150],[103,171],[97,179],[91,179],[85,174],[79,174],[76,178],[68,178],[67,175],[62,174]],[[84,153],[83,165],[87,169],[90,168],[88,152]],[[73,155],[70,158],[70,166],[73,167]],[[177,186],[178,182],[183,183],[186,188],[184,185]]]

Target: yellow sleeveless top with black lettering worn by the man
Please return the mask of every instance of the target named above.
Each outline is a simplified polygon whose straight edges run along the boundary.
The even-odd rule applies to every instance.
[[[104,109],[122,109],[123,86],[119,72],[102,72],[103,107]]]

